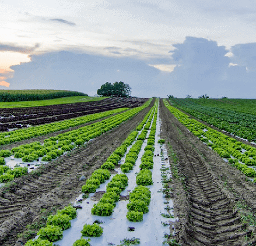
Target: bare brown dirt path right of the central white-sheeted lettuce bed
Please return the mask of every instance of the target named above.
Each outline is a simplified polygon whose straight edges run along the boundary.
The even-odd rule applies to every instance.
[[[192,135],[162,99],[159,112],[161,137],[166,140],[169,156],[175,152],[178,158],[170,160],[171,169],[178,170],[171,186],[174,214],[179,218],[174,224],[178,243],[256,245],[255,227],[249,227],[256,214],[255,184]]]

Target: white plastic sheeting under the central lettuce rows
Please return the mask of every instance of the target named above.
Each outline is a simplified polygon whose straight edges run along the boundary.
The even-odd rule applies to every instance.
[[[169,201],[164,198],[163,192],[161,192],[163,185],[161,183],[161,168],[169,167],[169,161],[167,159],[167,152],[164,150],[163,156],[160,156],[160,144],[157,144],[159,140],[160,133],[160,122],[159,115],[157,115],[157,129],[156,129],[156,141],[155,141],[155,155],[153,158],[154,166],[152,170],[152,179],[154,184],[148,186],[151,191],[151,201],[149,205],[149,212],[143,215],[142,222],[129,222],[126,218],[127,215],[127,204],[128,200],[118,201],[114,212],[111,216],[96,216],[92,215],[91,209],[93,204],[96,202],[92,200],[93,194],[90,194],[90,197],[85,199],[80,205],[82,209],[78,209],[77,218],[71,220],[71,228],[65,230],[63,233],[62,240],[56,241],[55,244],[60,246],[71,246],[73,243],[79,239],[82,234],[80,231],[83,229],[85,223],[92,224],[95,220],[100,220],[100,226],[103,227],[103,235],[98,238],[91,238],[90,244],[92,246],[98,245],[118,245],[121,240],[124,238],[140,238],[141,246],[160,246],[163,245],[165,234],[170,234],[169,224],[174,222],[176,219],[167,219],[164,218],[161,214],[167,213],[166,208],[173,208],[173,203],[171,199]],[[148,133],[149,134],[149,133]],[[121,195],[128,195],[136,187],[136,174],[139,172],[139,165],[141,164],[141,157],[146,147],[146,141],[142,145],[142,150],[139,152],[138,159],[135,163],[134,169],[130,173],[127,173],[128,177],[128,187],[122,191]],[[130,147],[131,148],[131,147]],[[128,151],[129,149],[128,148]],[[127,151],[127,152],[128,152]],[[157,154],[159,154],[157,156]],[[122,158],[121,163],[124,162]],[[115,169],[118,173],[121,173],[121,169]],[[169,173],[169,175],[171,175]],[[111,176],[113,177],[114,174]],[[111,178],[110,178],[111,179]],[[106,186],[110,180],[107,180],[106,183],[101,184],[97,191],[106,191]],[[96,192],[97,192],[96,191]],[[79,200],[82,198],[80,195]],[[171,210],[169,211],[169,213]],[[164,226],[163,223],[167,224]],[[128,227],[134,227],[134,231],[128,231]],[[85,237],[86,238],[86,237]]]

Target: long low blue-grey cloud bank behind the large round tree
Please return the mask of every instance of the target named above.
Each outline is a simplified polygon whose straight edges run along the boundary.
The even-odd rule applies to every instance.
[[[10,88],[62,89],[94,95],[107,81],[124,81],[131,85],[132,95],[159,95],[153,80],[160,71],[141,60],[124,57],[78,54],[77,52],[48,52],[31,55],[31,62],[11,66],[14,76],[8,79]],[[164,90],[164,89],[163,89]]]

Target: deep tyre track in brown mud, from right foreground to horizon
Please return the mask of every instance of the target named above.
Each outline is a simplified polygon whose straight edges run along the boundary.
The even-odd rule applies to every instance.
[[[180,190],[174,197],[174,212],[177,206],[183,207],[177,208],[180,213],[176,226],[178,243],[183,246],[247,245],[244,236],[248,232],[243,230],[240,214],[233,209],[234,204],[227,195],[229,191],[219,186],[204,159],[181,134],[185,128],[171,116],[162,100],[160,105],[162,137],[173,146],[179,159],[178,173],[184,179],[183,186],[177,184]],[[181,183],[180,180],[173,182]],[[183,193],[183,201],[177,193]]]

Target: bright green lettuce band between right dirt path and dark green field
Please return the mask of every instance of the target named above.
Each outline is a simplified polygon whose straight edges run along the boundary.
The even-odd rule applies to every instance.
[[[191,119],[185,113],[171,106],[166,99],[164,104],[171,113],[188,128],[201,141],[205,142],[213,151],[217,152],[220,157],[228,159],[229,163],[236,166],[247,177],[256,177],[256,171],[250,166],[256,166],[256,148],[243,142],[226,136],[225,134],[212,129]],[[243,151],[243,149],[245,151]],[[256,181],[256,179],[254,179]]]

